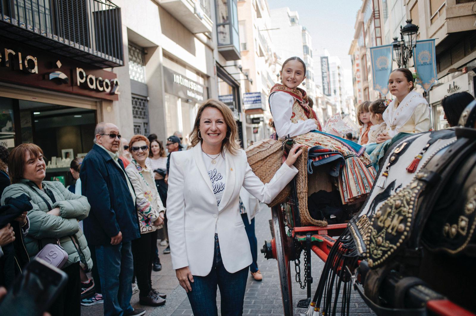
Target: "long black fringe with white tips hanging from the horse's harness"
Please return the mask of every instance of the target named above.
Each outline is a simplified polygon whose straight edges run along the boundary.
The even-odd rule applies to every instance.
[[[357,259],[358,253],[355,241],[349,230],[346,229],[330,249],[317,286],[316,307],[321,307],[322,315],[336,315],[337,301],[341,293],[341,314],[349,314],[352,286],[345,267],[348,266],[353,270],[357,265]],[[332,299],[333,291],[336,293],[334,300]]]

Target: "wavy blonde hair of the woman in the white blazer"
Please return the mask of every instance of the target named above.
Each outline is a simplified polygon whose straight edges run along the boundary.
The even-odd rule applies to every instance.
[[[232,154],[238,154],[241,149],[238,142],[238,127],[235,119],[233,118],[233,112],[231,112],[228,105],[218,101],[217,99],[208,99],[202,105],[198,107],[197,117],[193,124],[193,130],[189,135],[192,147],[202,142],[202,138],[198,137],[200,131],[200,118],[202,117],[203,110],[207,107],[216,108],[223,115],[225,124],[227,124],[227,135],[221,143],[221,149],[226,148]]]

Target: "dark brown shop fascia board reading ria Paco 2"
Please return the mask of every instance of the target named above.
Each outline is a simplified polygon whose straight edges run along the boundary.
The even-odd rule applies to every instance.
[[[18,43],[0,42],[0,81],[117,101],[115,73]]]

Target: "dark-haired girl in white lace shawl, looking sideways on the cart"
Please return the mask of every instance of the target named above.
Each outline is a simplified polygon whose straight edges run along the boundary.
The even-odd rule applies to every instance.
[[[416,91],[413,75],[407,68],[397,68],[390,73],[388,90],[395,99],[382,115],[388,133],[377,138],[378,142],[393,138],[399,133],[422,133],[430,130],[430,108],[426,99]]]

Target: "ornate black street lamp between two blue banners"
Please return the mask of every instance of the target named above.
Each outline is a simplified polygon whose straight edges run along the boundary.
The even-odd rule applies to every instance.
[[[394,60],[397,62],[398,67],[407,68],[408,60],[413,55],[413,48],[417,45],[417,33],[419,27],[412,24],[412,19],[406,20],[407,25],[400,26],[400,38],[393,38],[393,50],[395,52]]]

